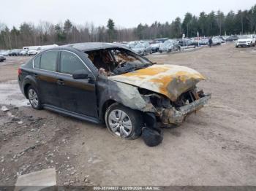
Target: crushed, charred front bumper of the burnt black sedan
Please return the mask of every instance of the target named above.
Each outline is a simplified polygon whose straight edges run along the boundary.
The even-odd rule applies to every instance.
[[[164,125],[181,125],[185,118],[201,109],[207,101],[211,98],[211,94],[206,94],[202,98],[193,101],[190,104],[181,106],[179,108],[172,107],[170,109],[163,109],[160,113],[160,120]]]

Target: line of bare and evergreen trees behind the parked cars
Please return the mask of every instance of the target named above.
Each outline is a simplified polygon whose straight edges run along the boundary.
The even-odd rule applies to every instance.
[[[154,22],[139,24],[135,28],[118,28],[112,19],[107,26],[94,26],[94,23],[75,25],[69,19],[64,23],[42,21],[37,26],[33,23],[22,23],[19,28],[8,28],[0,23],[0,49],[14,49],[23,46],[44,44],[68,44],[76,42],[124,42],[138,39],[156,39],[162,37],[181,38],[217,36],[232,34],[252,34],[256,31],[256,4],[250,9],[238,12],[230,11],[225,15],[222,11],[200,12],[192,15],[187,12],[184,20],[176,17],[171,23]]]

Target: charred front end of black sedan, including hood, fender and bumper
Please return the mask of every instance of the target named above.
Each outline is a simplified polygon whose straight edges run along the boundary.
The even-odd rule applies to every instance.
[[[184,66],[156,64],[109,79],[116,82],[121,104],[154,114],[157,122],[165,126],[180,125],[211,98],[211,94],[196,87],[205,78]]]

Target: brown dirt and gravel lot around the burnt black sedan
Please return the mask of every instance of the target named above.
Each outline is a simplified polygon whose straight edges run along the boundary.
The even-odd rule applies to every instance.
[[[212,93],[153,148],[110,136],[104,125],[31,109],[16,81],[27,58],[0,63],[0,105],[9,109],[0,110],[0,185],[50,167],[59,185],[256,185],[255,48],[227,44],[149,58],[200,71],[208,79],[199,87]]]

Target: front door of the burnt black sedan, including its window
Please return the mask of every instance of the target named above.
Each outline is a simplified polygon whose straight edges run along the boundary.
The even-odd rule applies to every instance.
[[[61,108],[69,112],[97,117],[97,98],[94,79],[73,79],[78,70],[90,72],[86,64],[74,52],[61,50],[57,88]]]

